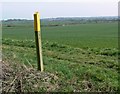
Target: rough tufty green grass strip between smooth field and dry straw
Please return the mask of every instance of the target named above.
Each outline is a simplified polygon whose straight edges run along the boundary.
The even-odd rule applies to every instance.
[[[7,41],[11,44],[7,44]],[[35,46],[27,45],[31,41],[26,41],[24,46],[17,45],[19,42],[4,40],[3,60],[25,63],[26,65],[30,62],[36,68]],[[34,44],[34,41],[32,42]],[[118,62],[116,54],[112,56],[102,55],[101,53],[96,54],[90,49],[53,45],[55,43],[43,43],[43,61],[44,71],[58,76],[59,88],[55,91],[117,90]],[[56,82],[53,81],[52,83]]]

